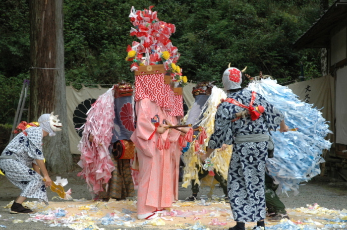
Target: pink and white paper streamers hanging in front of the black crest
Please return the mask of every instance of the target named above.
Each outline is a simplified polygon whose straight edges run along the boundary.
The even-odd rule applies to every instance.
[[[82,176],[86,180],[89,190],[97,194],[104,191],[102,185],[109,182],[112,171],[115,170],[109,152],[115,118],[112,88],[99,96],[87,115],[82,139],[78,145],[81,152],[81,160],[78,165],[82,171],[77,175]],[[92,143],[88,140],[89,134],[94,136]]]

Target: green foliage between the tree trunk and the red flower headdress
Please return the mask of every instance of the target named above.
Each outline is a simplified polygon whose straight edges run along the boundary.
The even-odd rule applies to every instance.
[[[65,0],[64,44],[66,81],[114,84],[132,80],[125,61],[130,8],[145,8],[149,1]]]

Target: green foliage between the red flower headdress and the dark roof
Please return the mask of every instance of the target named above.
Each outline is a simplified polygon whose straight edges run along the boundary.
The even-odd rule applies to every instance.
[[[298,76],[296,64],[302,57],[292,50],[292,43],[319,16],[318,1],[297,5],[293,1],[216,0],[213,8],[210,2],[199,0],[186,6],[194,10],[182,20],[183,36],[175,43],[184,74],[193,80],[220,80],[231,62],[238,68],[248,66],[250,75],[262,70],[285,81]],[[306,54],[317,56],[318,51]],[[319,73],[318,68],[315,71]]]

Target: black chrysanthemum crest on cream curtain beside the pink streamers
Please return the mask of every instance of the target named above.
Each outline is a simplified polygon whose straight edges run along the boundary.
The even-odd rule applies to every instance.
[[[75,109],[72,115],[72,121],[75,127],[76,132],[80,137],[82,137],[82,132],[83,128],[79,129],[82,127],[82,125],[87,121],[87,112],[90,108],[92,108],[92,105],[96,99],[94,98],[89,98],[83,102],[81,102]]]

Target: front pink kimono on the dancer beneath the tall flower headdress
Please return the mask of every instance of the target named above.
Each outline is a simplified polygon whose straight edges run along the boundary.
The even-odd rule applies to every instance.
[[[137,214],[139,215],[171,207],[174,195],[171,150],[157,148],[160,134],[156,132],[151,121],[151,118],[158,115],[160,124],[163,124],[164,119],[171,120],[170,116],[147,98],[136,101],[136,115],[136,129],[131,140],[136,146],[139,161],[137,191]],[[167,130],[161,134],[163,142],[168,138],[168,132]]]

